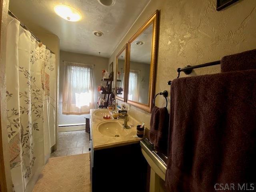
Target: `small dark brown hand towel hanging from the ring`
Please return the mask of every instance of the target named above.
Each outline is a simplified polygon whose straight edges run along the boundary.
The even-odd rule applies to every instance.
[[[168,139],[169,115],[166,107],[154,106],[150,119],[149,140],[157,150],[166,154]]]

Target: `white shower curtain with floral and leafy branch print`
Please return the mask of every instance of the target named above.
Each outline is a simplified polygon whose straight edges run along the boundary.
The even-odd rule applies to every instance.
[[[15,192],[34,185],[55,144],[55,55],[9,16],[6,102]],[[30,186],[31,187],[31,186]]]

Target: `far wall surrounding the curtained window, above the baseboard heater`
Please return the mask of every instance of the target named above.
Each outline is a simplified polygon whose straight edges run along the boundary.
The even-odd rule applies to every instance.
[[[58,110],[59,124],[61,125],[61,124],[84,123],[85,122],[84,115],[63,115],[62,114],[62,88],[63,88],[63,78],[64,78],[64,62],[63,61],[95,65],[94,66],[94,102],[95,102],[95,107],[97,108],[98,96],[102,96],[99,94],[97,87],[101,84],[102,70],[103,69],[108,70],[109,68],[108,58],[60,51],[60,90],[59,90],[60,94],[59,94],[59,110]]]

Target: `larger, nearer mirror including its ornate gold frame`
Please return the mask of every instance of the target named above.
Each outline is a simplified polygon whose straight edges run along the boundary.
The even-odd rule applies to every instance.
[[[154,98],[158,15],[156,10],[128,41],[127,103],[148,112]]]

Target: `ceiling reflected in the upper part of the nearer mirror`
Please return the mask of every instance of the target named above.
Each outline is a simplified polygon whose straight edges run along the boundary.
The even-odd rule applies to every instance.
[[[152,32],[153,24],[148,26],[140,36],[138,36],[131,44],[130,60],[140,63],[151,63],[151,50],[152,50]],[[144,44],[137,45],[136,42],[142,41]]]

